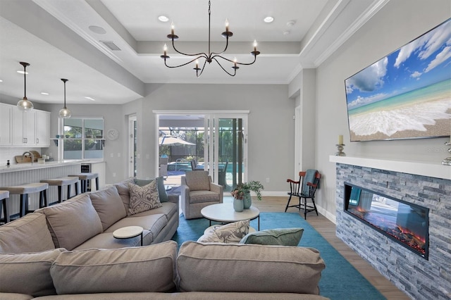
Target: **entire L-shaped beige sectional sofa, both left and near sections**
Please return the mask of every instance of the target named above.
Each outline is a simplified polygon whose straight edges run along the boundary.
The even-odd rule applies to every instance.
[[[0,226],[0,300],[325,299],[316,249],[185,242],[178,250],[168,241],[178,197],[124,216],[127,187],[119,182]],[[128,225],[145,228],[147,246],[112,236]]]

